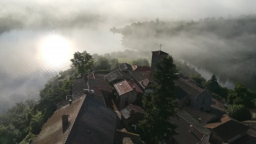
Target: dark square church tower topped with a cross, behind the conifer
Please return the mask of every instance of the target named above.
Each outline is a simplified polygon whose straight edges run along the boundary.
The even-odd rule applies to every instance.
[[[160,50],[158,51],[152,51],[152,59],[151,59],[151,73],[150,73],[150,77],[153,76],[154,71],[155,71],[155,64],[157,64],[157,62],[162,58],[162,57],[168,57],[168,53],[165,53],[163,51],[161,51],[161,46],[160,45]]]

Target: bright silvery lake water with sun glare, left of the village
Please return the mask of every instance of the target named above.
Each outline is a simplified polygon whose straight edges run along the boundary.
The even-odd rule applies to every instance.
[[[38,100],[47,80],[69,69],[74,52],[83,50],[103,54],[124,48],[121,35],[113,35],[109,29],[70,33],[13,30],[0,35],[0,113],[16,102]]]

